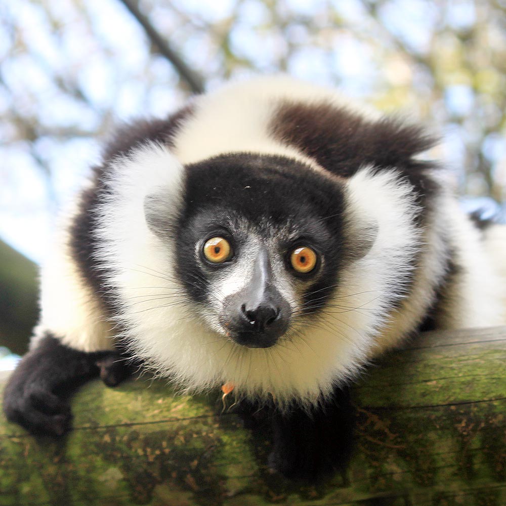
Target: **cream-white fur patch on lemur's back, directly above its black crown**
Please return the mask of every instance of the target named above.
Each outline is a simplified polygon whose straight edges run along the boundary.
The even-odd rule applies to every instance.
[[[176,136],[174,154],[182,163],[193,163],[222,153],[265,153],[295,158],[319,170],[315,160],[268,134],[271,115],[284,98],[304,103],[328,102],[369,117],[378,116],[375,111],[351,105],[334,90],[283,75],[262,77],[232,83],[195,99],[196,112]]]

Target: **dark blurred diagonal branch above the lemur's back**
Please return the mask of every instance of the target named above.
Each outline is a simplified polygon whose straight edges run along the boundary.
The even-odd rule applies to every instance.
[[[203,93],[204,83],[202,78],[194,72],[183,59],[171,48],[167,41],[156,31],[150,23],[147,16],[139,10],[135,0],[120,0],[120,2],[132,13],[137,21],[142,25],[146,35],[158,48],[158,51],[168,61],[170,61],[181,77],[188,83],[191,91],[194,93]]]

